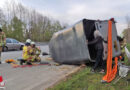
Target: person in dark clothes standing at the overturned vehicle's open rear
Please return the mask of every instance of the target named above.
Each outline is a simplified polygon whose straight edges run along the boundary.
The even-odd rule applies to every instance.
[[[95,62],[95,65],[94,67],[92,68],[92,72],[95,72],[95,69],[99,66],[99,64],[101,63],[101,67],[102,67],[102,70],[100,73],[104,73],[104,68],[105,68],[105,65],[103,63],[103,38],[102,38],[102,35],[101,33],[98,31],[98,30],[95,30],[94,32],[94,40],[93,41],[90,41],[88,42],[88,45],[91,45],[91,44],[95,44],[95,48],[96,48],[96,51],[97,51],[97,55],[96,55],[96,62]]]

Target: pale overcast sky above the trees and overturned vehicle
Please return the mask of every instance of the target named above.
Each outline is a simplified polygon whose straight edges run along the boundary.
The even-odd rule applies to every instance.
[[[0,7],[4,2],[0,0]],[[15,0],[54,19],[70,25],[83,19],[110,19],[114,17],[118,34],[126,25],[126,16],[130,16],[130,0]]]

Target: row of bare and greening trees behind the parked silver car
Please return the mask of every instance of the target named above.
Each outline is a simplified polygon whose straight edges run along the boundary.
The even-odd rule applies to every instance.
[[[35,9],[23,6],[15,1],[5,3],[5,20],[7,23],[7,31],[9,37],[15,37],[15,33],[23,34],[24,39],[30,38],[34,41],[49,40],[52,34],[62,29],[62,25],[58,20],[44,16]],[[0,20],[3,17],[3,12],[0,11]],[[5,18],[5,19],[6,19]],[[1,22],[3,22],[1,20]],[[0,23],[1,23],[0,22]],[[15,30],[16,29],[16,30]],[[22,31],[21,31],[22,30]],[[19,32],[18,32],[19,31]],[[18,38],[18,36],[17,36]],[[23,40],[22,38],[20,38]]]

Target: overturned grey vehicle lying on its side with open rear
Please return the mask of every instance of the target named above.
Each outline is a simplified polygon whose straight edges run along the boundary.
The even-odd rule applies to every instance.
[[[94,39],[94,31],[99,30],[104,41],[104,56],[107,59],[108,20],[83,19],[71,27],[54,33],[49,43],[50,54],[54,61],[61,64],[80,64],[95,61],[96,50],[94,45],[88,45],[86,40]],[[121,54],[115,21],[112,23],[112,54],[113,57]]]

